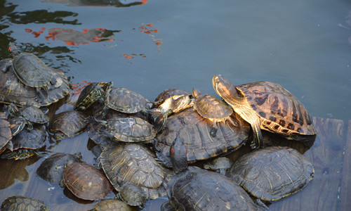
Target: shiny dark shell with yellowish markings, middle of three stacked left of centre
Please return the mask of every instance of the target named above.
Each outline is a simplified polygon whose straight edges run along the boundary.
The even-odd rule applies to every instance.
[[[152,124],[139,117],[107,120],[106,129],[114,135],[115,139],[125,142],[148,141],[156,136]]]

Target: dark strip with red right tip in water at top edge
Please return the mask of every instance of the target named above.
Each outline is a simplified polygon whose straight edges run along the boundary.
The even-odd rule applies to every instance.
[[[134,0],[46,0],[46,3],[59,3],[67,4],[67,6],[116,6],[127,7],[146,4],[147,0],[134,1]]]

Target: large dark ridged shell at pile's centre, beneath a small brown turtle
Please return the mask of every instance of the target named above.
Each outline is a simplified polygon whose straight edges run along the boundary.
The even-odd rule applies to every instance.
[[[177,136],[184,141],[188,161],[205,160],[237,150],[246,143],[250,126],[235,113],[230,118],[232,121],[216,122],[218,130],[213,137],[210,134],[213,122],[192,108],[168,117],[166,128],[156,136],[161,153],[169,156],[169,148]]]

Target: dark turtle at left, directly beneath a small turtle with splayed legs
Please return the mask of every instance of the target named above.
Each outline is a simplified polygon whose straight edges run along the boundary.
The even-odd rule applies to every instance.
[[[46,141],[46,130],[42,124],[36,125],[30,132],[22,130],[13,136],[13,151],[8,151],[1,155],[1,158],[23,160],[32,155],[44,155],[37,149],[42,148]]]

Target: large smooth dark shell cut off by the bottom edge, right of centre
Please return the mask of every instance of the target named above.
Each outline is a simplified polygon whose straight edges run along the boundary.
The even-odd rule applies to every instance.
[[[167,196],[176,210],[260,210],[235,181],[199,167],[171,177]]]

